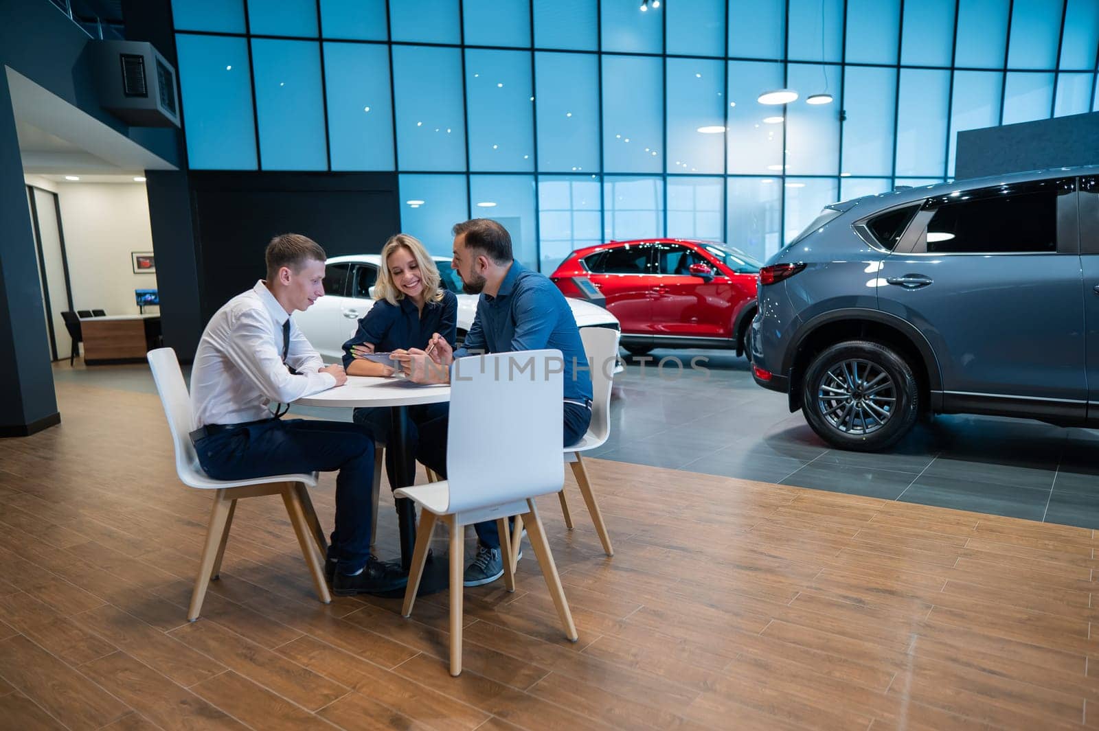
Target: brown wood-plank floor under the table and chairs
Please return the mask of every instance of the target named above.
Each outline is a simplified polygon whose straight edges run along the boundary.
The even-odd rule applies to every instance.
[[[318,604],[277,497],[188,623],[210,497],[159,401],[58,401],[0,440],[3,729],[1099,728],[1090,530],[593,460],[613,559],[571,482],[576,530],[542,502],[580,641],[528,549],[514,594],[466,591],[455,679],[445,594]]]

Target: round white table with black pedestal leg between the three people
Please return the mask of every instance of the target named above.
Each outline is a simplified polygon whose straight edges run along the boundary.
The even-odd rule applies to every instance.
[[[387,379],[348,375],[347,383],[344,385],[304,396],[293,403],[302,406],[326,406],[330,408],[388,406],[392,420],[386,448],[397,450],[396,454],[403,454],[407,449],[404,445],[404,431],[408,423],[406,407],[439,404],[449,400],[449,384],[420,385],[402,376]],[[393,464],[397,468],[396,474],[392,475],[396,484],[390,485],[390,488],[397,490],[411,485],[415,475],[406,474],[404,460],[393,460]],[[401,566],[408,571],[412,563],[412,550],[415,547],[415,508],[412,501],[408,498],[397,498],[395,503],[397,504],[397,522],[401,536]],[[440,563],[445,570],[446,562]],[[435,584],[436,582],[429,583]],[[445,585],[444,583],[443,587]],[[424,589],[430,591],[430,587],[422,586],[421,593],[424,593]],[[403,595],[403,589],[401,595]]]

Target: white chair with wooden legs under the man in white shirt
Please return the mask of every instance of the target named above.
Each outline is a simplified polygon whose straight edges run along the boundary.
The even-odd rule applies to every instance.
[[[259,497],[263,495],[281,495],[290,524],[298,535],[301,553],[313,577],[317,596],[324,604],[332,601],[329,587],[324,583],[321,562],[313,551],[310,535],[323,556],[328,551],[324,531],[309,499],[307,487],[317,486],[317,473],[312,474],[279,474],[254,480],[213,480],[199,465],[195,446],[191,445],[191,402],[187,394],[187,383],[179,370],[176,351],[171,348],[158,348],[148,352],[148,364],[153,370],[153,380],[164,404],[164,414],[168,418],[171,430],[171,441],[176,449],[176,473],[179,480],[190,487],[212,490],[213,511],[210,515],[210,527],[207,530],[206,548],[202,549],[202,561],[199,575],[195,580],[195,592],[191,594],[191,606],[187,619],[195,621],[202,610],[207,586],[210,580],[217,580],[221,571],[221,560],[225,554],[225,543],[229,541],[229,529],[233,524],[233,513],[236,501],[243,497]]]

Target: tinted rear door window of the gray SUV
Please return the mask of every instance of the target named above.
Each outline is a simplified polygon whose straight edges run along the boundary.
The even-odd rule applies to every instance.
[[[928,224],[925,236],[929,254],[1056,251],[1057,191],[959,198],[957,203],[943,203]]]

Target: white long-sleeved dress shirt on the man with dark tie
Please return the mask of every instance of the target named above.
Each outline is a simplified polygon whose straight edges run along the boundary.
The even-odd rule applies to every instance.
[[[290,316],[263,280],[214,313],[202,333],[191,368],[195,426],[241,424],[270,417],[268,405],[288,404],[336,384],[320,355],[290,320],[290,348],[282,364],[282,323]]]

